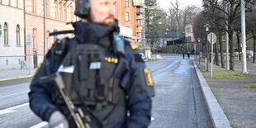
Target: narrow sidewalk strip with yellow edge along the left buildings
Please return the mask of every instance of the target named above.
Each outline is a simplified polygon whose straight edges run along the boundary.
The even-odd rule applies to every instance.
[[[0,70],[0,81],[17,79],[17,78],[30,78],[34,75],[34,73],[36,73],[36,69]]]

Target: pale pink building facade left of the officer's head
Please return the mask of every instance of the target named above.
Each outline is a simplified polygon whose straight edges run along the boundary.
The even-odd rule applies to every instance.
[[[77,21],[74,5],[73,1],[64,0],[25,0],[26,42],[31,42],[26,45],[26,61],[30,68],[37,68],[54,42],[56,37],[49,36],[50,32],[73,30],[66,23]],[[68,35],[58,37],[64,36]]]

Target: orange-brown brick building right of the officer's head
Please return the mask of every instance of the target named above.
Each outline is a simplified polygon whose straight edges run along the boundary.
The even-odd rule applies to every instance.
[[[144,0],[121,0],[116,2],[116,19],[120,35],[131,43],[140,45],[145,40]]]

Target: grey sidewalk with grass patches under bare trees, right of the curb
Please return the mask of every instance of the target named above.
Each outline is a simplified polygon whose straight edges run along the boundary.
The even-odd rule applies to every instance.
[[[199,66],[198,60],[194,60]],[[256,64],[247,61],[249,73],[256,73]],[[246,88],[244,85],[256,83],[254,78],[211,78],[211,72],[205,72],[205,63],[201,63],[201,73],[217,102],[223,109],[225,116],[234,128],[256,127],[256,88]],[[211,69],[211,64],[209,64]],[[214,65],[213,73],[241,73],[242,63],[235,61],[235,72],[221,69]],[[210,76],[210,77],[209,77]]]

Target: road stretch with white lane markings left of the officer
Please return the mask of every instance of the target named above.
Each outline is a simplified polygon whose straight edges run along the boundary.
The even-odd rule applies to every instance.
[[[26,80],[28,80],[27,78]],[[23,82],[23,79],[21,80]],[[17,80],[5,82],[17,83]],[[36,128],[46,126],[30,109],[27,93],[29,83],[0,86],[0,127],[1,128]],[[41,123],[42,122],[42,123]],[[34,127],[33,127],[34,126]]]

